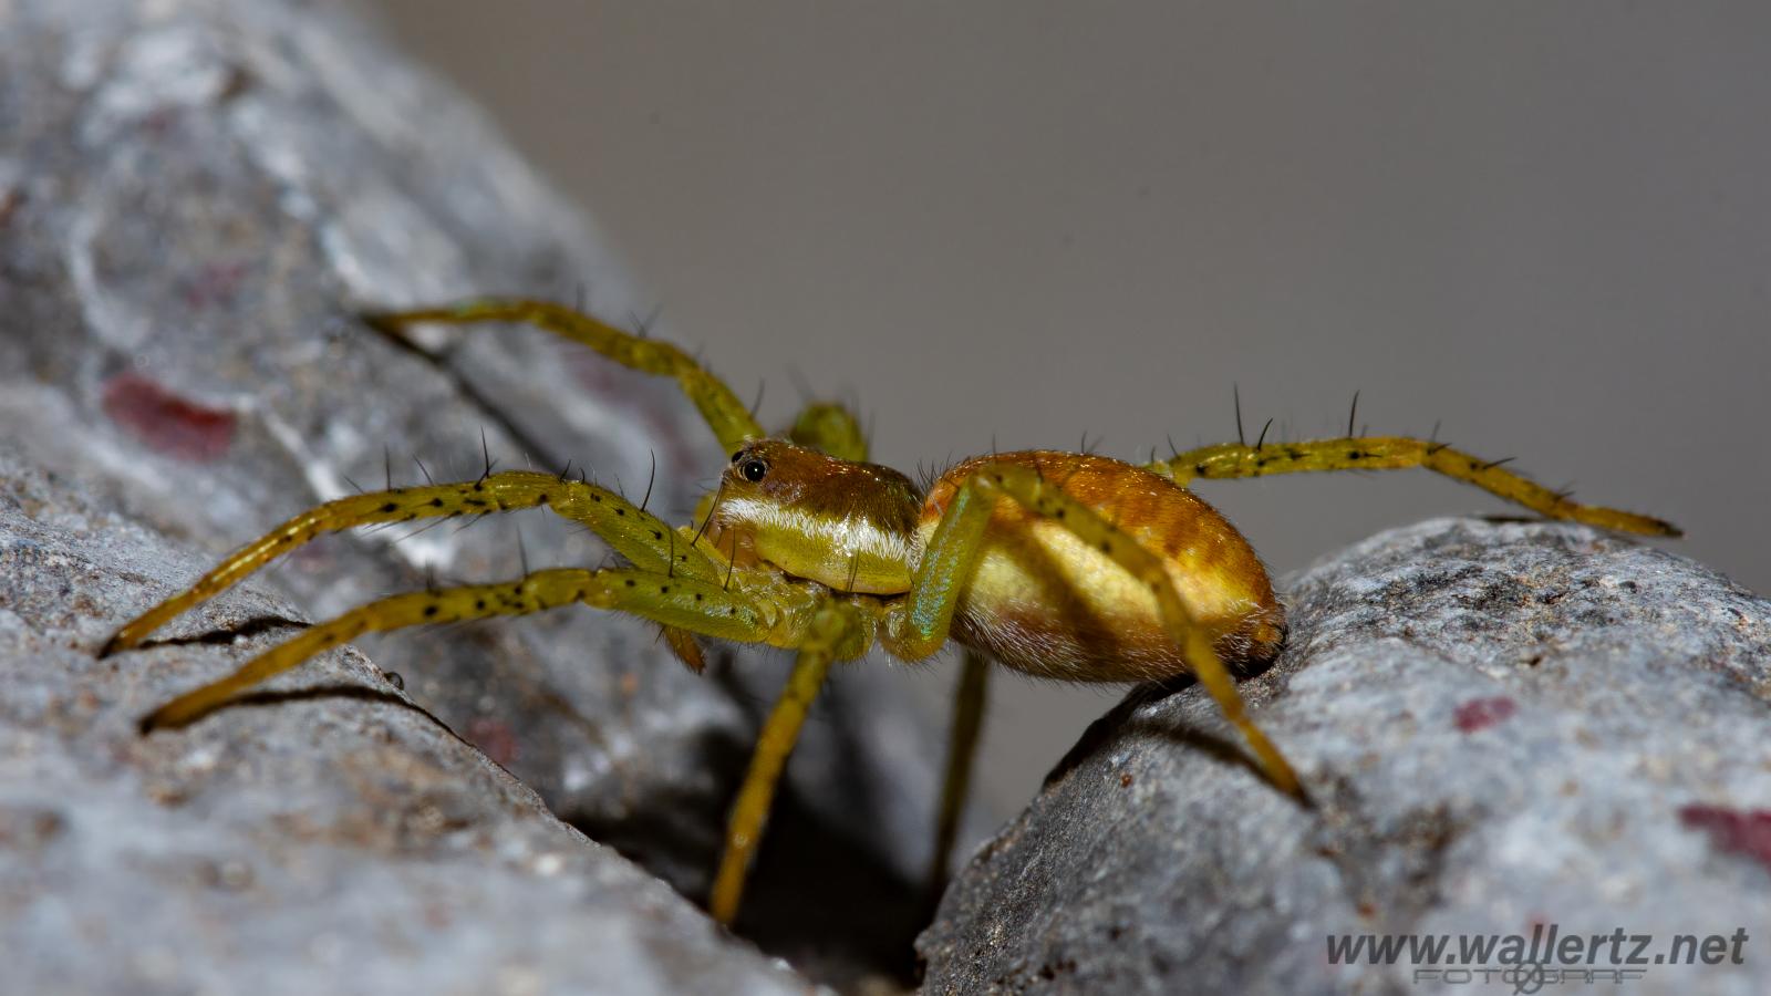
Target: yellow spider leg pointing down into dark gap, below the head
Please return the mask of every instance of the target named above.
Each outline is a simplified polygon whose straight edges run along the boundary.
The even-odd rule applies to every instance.
[[[818,610],[806,642],[799,647],[793,673],[788,675],[781,698],[776,700],[763,723],[756,750],[751,753],[751,767],[744,773],[744,785],[739,789],[731,817],[726,821],[726,849],[719,856],[719,872],[714,875],[714,891],[707,904],[708,913],[721,923],[731,923],[739,914],[744,879],[749,875],[751,861],[756,860],[756,847],[762,844],[763,826],[769,822],[769,808],[774,805],[786,759],[793,753],[793,744],[799,743],[806,714],[818,698],[824,679],[831,673],[831,665],[838,656],[848,656],[854,650],[845,643],[855,636],[855,622],[847,606],[829,603]]]

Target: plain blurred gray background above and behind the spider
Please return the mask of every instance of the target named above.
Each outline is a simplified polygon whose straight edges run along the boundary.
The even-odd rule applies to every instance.
[[[584,206],[666,335],[767,381],[767,424],[802,376],[914,471],[1224,441],[1231,385],[1250,434],[1337,434],[1360,390],[1373,432],[1442,422],[1771,588],[1771,5],[372,9]],[[1199,491],[1275,572],[1505,510],[1419,471]],[[914,681],[944,704],[947,675]],[[1121,695],[994,691],[1006,810]]]

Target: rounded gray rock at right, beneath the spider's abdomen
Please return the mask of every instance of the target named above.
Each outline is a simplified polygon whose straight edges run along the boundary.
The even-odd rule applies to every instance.
[[[1539,925],[1651,957],[1744,927],[1743,964],[1599,989],[1771,992],[1771,604],[1587,528],[1472,519],[1284,590],[1289,647],[1243,689],[1316,810],[1197,688],[1139,689],[960,874],[926,992],[1585,991],[1555,961],[1459,985],[1326,948]]]

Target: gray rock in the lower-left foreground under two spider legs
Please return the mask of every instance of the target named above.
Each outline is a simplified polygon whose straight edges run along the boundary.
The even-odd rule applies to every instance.
[[[94,659],[202,567],[0,448],[0,991],[806,992],[329,654],[179,735],[142,712],[278,629]],[[248,587],[218,626],[296,610]]]

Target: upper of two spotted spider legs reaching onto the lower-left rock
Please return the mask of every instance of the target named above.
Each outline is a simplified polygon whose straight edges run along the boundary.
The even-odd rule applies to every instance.
[[[584,523],[636,567],[715,583],[723,576],[723,565],[715,564],[703,549],[675,533],[664,519],[636,507],[620,494],[595,484],[563,480],[551,473],[514,470],[462,484],[351,494],[308,509],[236,549],[189,588],[126,624],[99,656],[140,645],[179,613],[232,588],[259,567],[321,533],[374,523],[478,516],[535,507],[547,507],[560,516]]]

